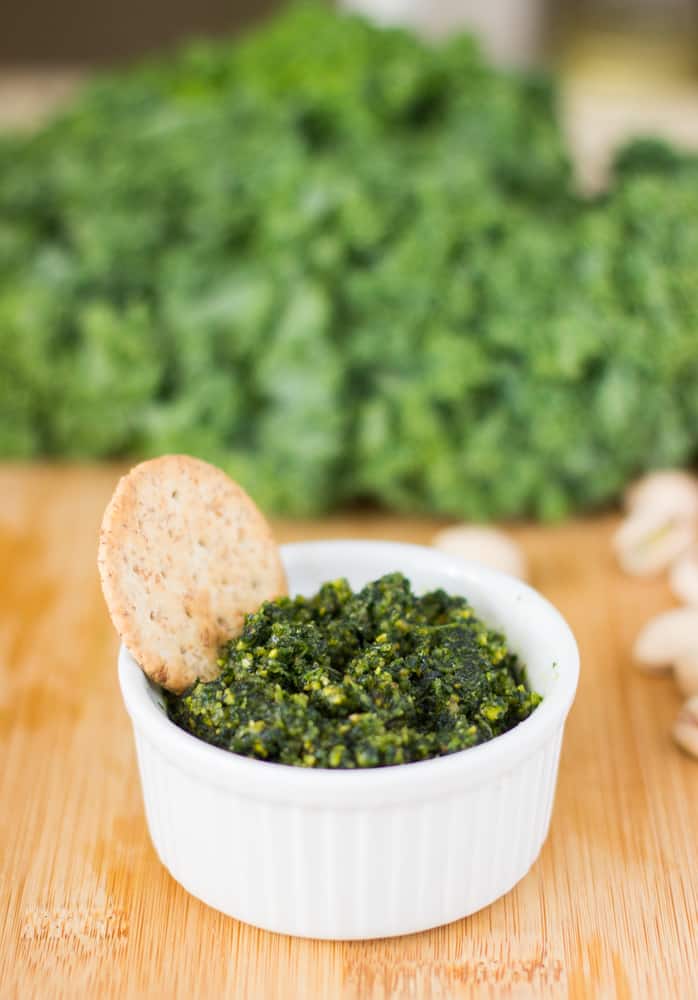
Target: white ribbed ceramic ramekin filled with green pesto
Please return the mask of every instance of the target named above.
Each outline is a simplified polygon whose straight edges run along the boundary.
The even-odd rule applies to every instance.
[[[570,629],[519,580],[434,549],[327,541],[282,553],[293,593],[401,570],[418,591],[464,594],[506,633],[543,702],[510,732],[450,756],[357,771],[288,767],[178,729],[122,647],[121,690],[162,863],[210,906],[304,937],[406,934],[487,906],[526,874],[548,831],[579,673]]]

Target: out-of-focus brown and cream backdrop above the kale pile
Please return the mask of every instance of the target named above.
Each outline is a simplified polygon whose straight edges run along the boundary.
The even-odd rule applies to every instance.
[[[263,22],[279,0],[63,0],[0,10],[0,123],[36,121],[96,67]],[[698,146],[698,0],[345,0],[428,37],[473,32],[504,67],[553,67],[581,182],[603,184],[613,149],[651,131]]]

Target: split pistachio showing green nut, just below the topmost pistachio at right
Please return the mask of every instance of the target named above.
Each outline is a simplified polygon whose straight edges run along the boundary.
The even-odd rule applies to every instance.
[[[695,537],[695,521],[645,508],[623,521],[613,547],[626,573],[645,576],[667,569]]]

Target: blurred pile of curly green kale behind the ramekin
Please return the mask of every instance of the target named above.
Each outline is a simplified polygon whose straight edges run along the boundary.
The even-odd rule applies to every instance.
[[[549,82],[316,6],[0,137],[0,454],[268,510],[562,516],[698,445],[698,167],[574,194]]]

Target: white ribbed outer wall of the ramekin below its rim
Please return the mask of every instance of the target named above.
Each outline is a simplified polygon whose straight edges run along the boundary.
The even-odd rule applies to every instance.
[[[257,927],[349,939],[448,923],[516,885],[548,831],[561,737],[495,782],[370,808],[222,794],[136,746],[153,844],[185,889]]]

